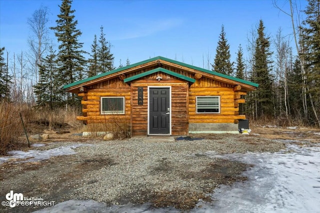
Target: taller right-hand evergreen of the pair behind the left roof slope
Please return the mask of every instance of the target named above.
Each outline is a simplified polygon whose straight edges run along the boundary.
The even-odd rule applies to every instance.
[[[113,54],[110,53],[110,44],[105,39],[103,26],[100,27],[99,44],[100,45],[98,47],[97,59],[99,65],[99,73],[103,73],[113,69]]]

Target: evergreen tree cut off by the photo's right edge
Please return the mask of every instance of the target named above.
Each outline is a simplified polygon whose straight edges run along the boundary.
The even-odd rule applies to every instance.
[[[320,0],[308,0],[302,22],[304,34],[307,89],[313,119],[320,126]]]

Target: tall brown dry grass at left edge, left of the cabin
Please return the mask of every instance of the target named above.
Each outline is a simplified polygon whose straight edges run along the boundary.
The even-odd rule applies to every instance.
[[[23,149],[27,145],[20,113],[28,135],[82,128],[82,123],[76,120],[80,114],[78,108],[48,110],[0,102],[0,155],[6,155],[13,149]]]

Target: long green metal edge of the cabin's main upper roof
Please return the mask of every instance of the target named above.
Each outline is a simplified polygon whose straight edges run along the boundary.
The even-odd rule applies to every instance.
[[[254,86],[254,87],[258,87],[259,86],[258,84],[252,83],[250,81],[245,81],[245,80],[242,80],[242,79],[239,79],[239,78],[235,78],[235,77],[224,75],[224,74],[221,74],[221,73],[218,73],[218,72],[214,72],[214,71],[211,71],[211,70],[203,69],[203,68],[200,68],[200,67],[196,67],[196,66],[193,66],[193,65],[190,65],[190,64],[186,64],[186,63],[182,63],[182,62],[179,62],[179,61],[175,61],[175,60],[172,60],[172,59],[169,59],[169,58],[165,58],[165,57],[162,57],[162,56],[157,56],[157,57],[154,57],[154,58],[150,58],[150,59],[147,59],[147,60],[144,60],[144,61],[141,61],[141,62],[137,62],[137,63],[131,64],[129,66],[124,66],[124,67],[121,67],[121,68],[118,68],[118,69],[111,70],[109,72],[104,72],[104,73],[101,73],[99,75],[95,75],[95,76],[92,76],[92,77],[89,77],[89,78],[86,78],[86,79],[83,79],[83,80],[80,80],[80,81],[76,81],[76,82],[64,85],[63,89],[67,89],[69,87],[76,86],[78,84],[89,82],[91,80],[94,80],[94,79],[97,79],[97,78],[100,78],[100,77],[104,77],[104,76],[108,76],[110,74],[113,74],[113,73],[116,73],[116,72],[120,72],[120,71],[123,71],[125,69],[129,69],[129,68],[132,68],[132,67],[135,67],[135,66],[138,66],[138,65],[142,65],[142,64],[154,61],[154,60],[158,60],[158,59],[161,59],[161,60],[164,60],[164,61],[167,61],[167,62],[171,62],[171,63],[174,63],[174,64],[178,64],[178,65],[181,65],[181,66],[185,66],[185,67],[188,67],[188,68],[191,68],[191,69],[195,69],[195,70],[198,70],[198,71],[201,71],[201,72],[205,72],[205,73],[208,73],[208,74],[211,74],[211,75],[216,75],[216,76],[219,76],[219,77],[222,77],[222,78],[226,78],[226,79],[229,79],[229,80],[233,80],[233,81],[237,81],[237,82],[240,82],[240,83],[244,83],[244,84],[247,84],[247,85],[250,85],[250,86]],[[169,71],[169,70],[167,70],[167,71]],[[143,73],[141,73],[141,74],[143,74]],[[175,74],[177,74],[177,73],[175,73]],[[173,75],[173,74],[170,74],[170,75]],[[179,75],[179,74],[177,74],[177,75]],[[186,77],[186,76],[184,76],[184,77]],[[192,79],[192,78],[190,78],[190,79]]]

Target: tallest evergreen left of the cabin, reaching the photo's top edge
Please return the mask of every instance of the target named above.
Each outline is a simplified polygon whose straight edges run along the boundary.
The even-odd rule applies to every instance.
[[[60,5],[60,14],[57,15],[56,26],[50,27],[55,32],[58,42],[60,43],[57,53],[58,76],[61,87],[65,84],[72,83],[82,78],[82,70],[85,64],[82,50],[83,43],[78,41],[78,37],[82,34],[79,29],[76,29],[77,20],[74,20],[71,9],[72,0],[62,0]],[[62,91],[62,90],[61,90]],[[77,103],[77,97],[69,93],[65,95],[65,102],[74,104]]]

